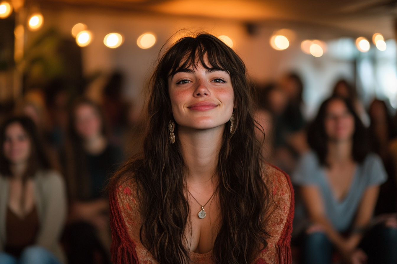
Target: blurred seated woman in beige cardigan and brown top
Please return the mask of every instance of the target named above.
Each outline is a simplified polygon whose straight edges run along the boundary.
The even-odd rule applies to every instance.
[[[64,263],[59,238],[66,188],[61,175],[50,170],[35,123],[11,118],[0,139],[0,263]]]

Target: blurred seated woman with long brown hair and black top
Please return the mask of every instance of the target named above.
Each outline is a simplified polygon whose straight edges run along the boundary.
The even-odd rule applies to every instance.
[[[100,107],[79,99],[72,107],[63,163],[70,212],[64,239],[70,263],[107,263],[110,247],[109,204],[103,192],[121,162],[121,150],[109,143]],[[103,245],[103,246],[102,246]]]

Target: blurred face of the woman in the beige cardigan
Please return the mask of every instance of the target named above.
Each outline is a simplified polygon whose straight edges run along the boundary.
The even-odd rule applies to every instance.
[[[6,127],[3,151],[12,164],[25,163],[29,159],[31,142],[20,123],[11,123]]]

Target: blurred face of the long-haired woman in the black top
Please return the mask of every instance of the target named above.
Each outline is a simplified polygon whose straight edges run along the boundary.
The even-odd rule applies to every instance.
[[[90,139],[101,133],[102,122],[93,106],[81,104],[75,110],[75,128],[83,139]]]

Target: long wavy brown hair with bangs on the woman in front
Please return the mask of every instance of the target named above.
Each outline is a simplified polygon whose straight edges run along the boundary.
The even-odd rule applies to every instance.
[[[204,62],[208,59],[208,64]],[[250,263],[266,247],[268,191],[262,180],[260,142],[255,137],[253,87],[241,58],[218,38],[200,33],[184,37],[160,58],[150,79],[147,130],[143,152],[131,158],[110,181],[114,190],[121,180],[137,182],[142,214],[141,242],[160,263],[188,263],[185,228],[189,203],[183,173],[181,142],[169,141],[173,119],[168,78],[197,66],[225,70],[234,91],[236,127],[225,124],[218,157],[218,196],[222,220],[214,242],[216,263]],[[177,135],[177,126],[175,127]]]

